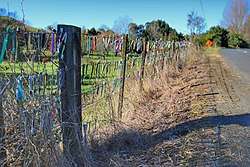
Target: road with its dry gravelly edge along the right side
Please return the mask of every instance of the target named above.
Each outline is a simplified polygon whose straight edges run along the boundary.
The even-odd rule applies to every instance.
[[[220,56],[221,55],[221,56]],[[216,112],[224,117],[217,126],[221,158],[217,166],[250,166],[250,50],[222,49],[210,55]]]

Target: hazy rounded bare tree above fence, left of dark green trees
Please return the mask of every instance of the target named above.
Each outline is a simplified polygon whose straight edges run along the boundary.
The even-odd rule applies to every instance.
[[[113,31],[118,34],[127,34],[129,29],[129,23],[132,19],[128,16],[119,17],[114,21]]]

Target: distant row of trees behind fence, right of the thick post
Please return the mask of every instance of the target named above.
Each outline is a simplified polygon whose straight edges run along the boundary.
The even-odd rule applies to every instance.
[[[168,23],[163,20],[153,20],[147,22],[145,25],[138,25],[130,22],[132,19],[120,17],[114,22],[114,27],[111,29],[106,25],[102,25],[99,29],[82,28],[82,32],[88,35],[98,34],[128,34],[131,39],[145,38],[147,40],[184,40],[182,33],[178,33],[174,28],[170,27]],[[119,27],[123,27],[119,29]]]

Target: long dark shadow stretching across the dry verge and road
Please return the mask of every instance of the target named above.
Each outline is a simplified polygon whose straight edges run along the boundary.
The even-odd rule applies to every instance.
[[[124,130],[113,135],[100,147],[102,150],[105,147],[112,152],[121,150],[136,152],[137,150],[147,150],[167,140],[178,139],[192,131],[226,125],[248,127],[250,126],[250,114],[208,116],[178,124],[157,134],[141,134],[134,130]]]

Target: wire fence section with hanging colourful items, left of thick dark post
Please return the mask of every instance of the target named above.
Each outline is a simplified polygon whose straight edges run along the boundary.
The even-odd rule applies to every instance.
[[[58,64],[52,47],[55,33],[7,28],[0,41],[1,151],[6,154],[1,166],[56,162],[53,152],[61,141],[61,111]]]

